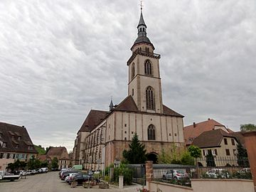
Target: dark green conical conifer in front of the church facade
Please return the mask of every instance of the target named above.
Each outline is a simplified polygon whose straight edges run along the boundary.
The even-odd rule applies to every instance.
[[[132,143],[129,144],[129,150],[123,151],[123,157],[129,164],[144,164],[146,161],[145,145],[139,142],[137,133],[132,137]]]

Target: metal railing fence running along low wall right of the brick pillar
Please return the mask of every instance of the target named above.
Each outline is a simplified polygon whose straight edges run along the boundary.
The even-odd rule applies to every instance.
[[[237,157],[205,157],[197,159],[196,166],[184,166],[180,164],[154,164],[154,180],[173,183],[182,186],[191,186],[190,178],[245,178],[251,179],[250,165],[247,158]],[[178,170],[186,175],[176,176]]]

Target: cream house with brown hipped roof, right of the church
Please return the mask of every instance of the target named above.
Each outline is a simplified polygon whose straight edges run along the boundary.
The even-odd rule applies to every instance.
[[[216,166],[238,166],[236,158],[237,145],[240,142],[238,134],[228,133],[223,129],[213,129],[193,139],[192,144],[201,149],[203,156],[199,159],[198,165],[206,166],[206,156],[211,152]]]

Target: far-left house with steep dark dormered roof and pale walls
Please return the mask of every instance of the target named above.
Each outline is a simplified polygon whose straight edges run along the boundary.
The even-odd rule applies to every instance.
[[[0,170],[17,159],[27,162],[37,154],[26,127],[0,122]]]

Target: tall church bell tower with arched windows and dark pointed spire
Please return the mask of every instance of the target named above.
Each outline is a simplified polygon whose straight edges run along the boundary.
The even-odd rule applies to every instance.
[[[142,8],[137,26],[138,37],[131,48],[132,56],[127,61],[129,67],[128,95],[131,95],[139,111],[163,113],[160,55],[154,53],[154,46],[146,36]]]

